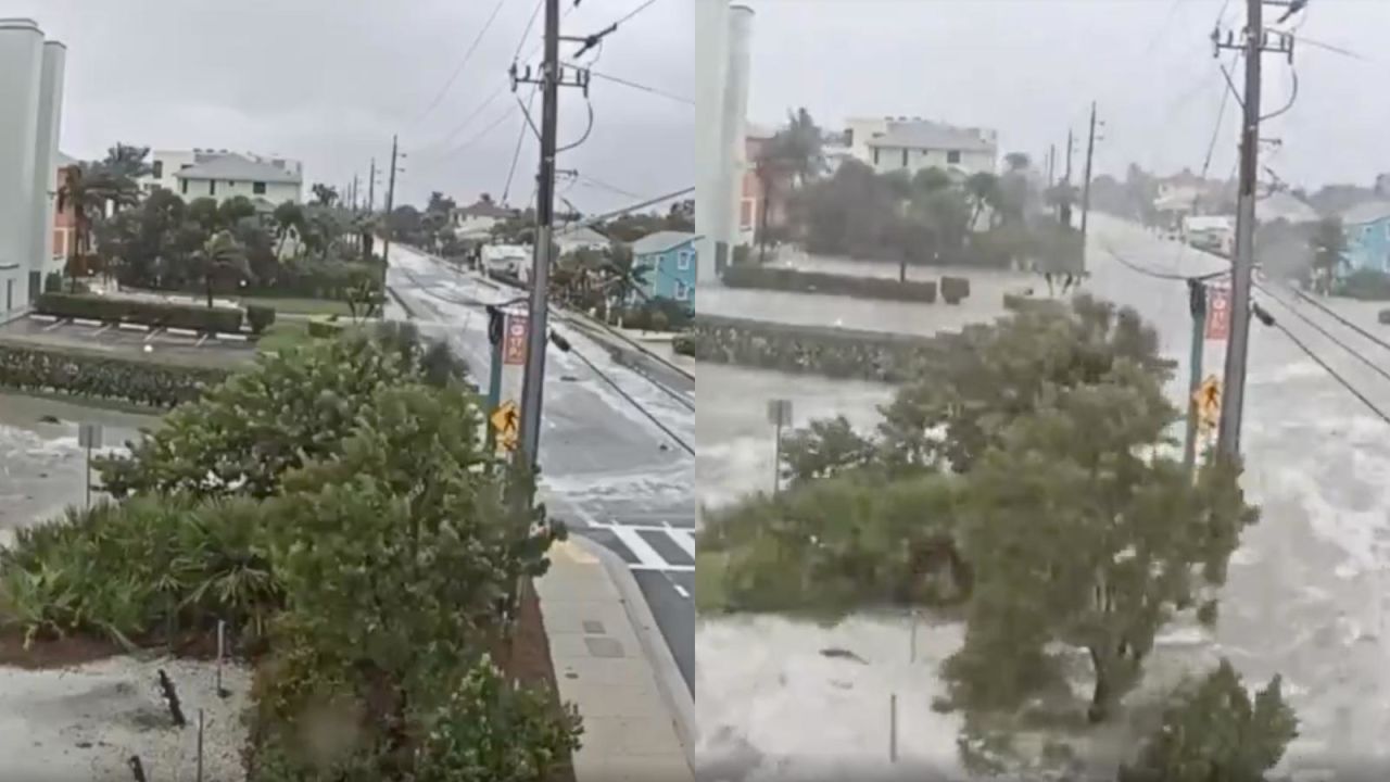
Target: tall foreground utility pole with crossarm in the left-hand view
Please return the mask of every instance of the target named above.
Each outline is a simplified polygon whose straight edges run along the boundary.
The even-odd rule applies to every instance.
[[[525,374],[521,378],[521,449],[518,454],[518,458],[524,459],[530,469],[539,466],[541,452],[541,402],[545,392],[545,348],[549,342],[548,296],[550,292],[550,245],[555,235],[555,156],[560,86],[584,88],[585,96],[588,96],[589,89],[587,70],[577,70],[573,81],[567,81],[566,67],[560,64],[560,40],[582,43],[584,46],[578,51],[584,53],[614,29],[617,28],[610,25],[603,32],[591,36],[562,36],[560,0],[545,0],[545,60],[541,72],[532,77],[531,67],[527,65],[524,74],[518,74],[517,65],[512,65],[513,92],[520,83],[541,86],[541,170],[537,175],[535,189],[535,249],[531,259]]]

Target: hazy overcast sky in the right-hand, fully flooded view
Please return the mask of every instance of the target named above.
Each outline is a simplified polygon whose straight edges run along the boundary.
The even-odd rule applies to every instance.
[[[1041,159],[1084,134],[1090,102],[1106,122],[1099,171],[1201,170],[1225,88],[1209,33],[1218,14],[1244,19],[1244,0],[749,0],[749,115],[780,122],[805,106],[823,125],[849,115],[906,114],[999,131],[1002,150]],[[1312,43],[1295,51],[1300,93],[1266,124],[1282,138],[1264,161],[1305,185],[1369,184],[1390,171],[1390,0],[1309,0],[1295,19]],[[1269,8],[1266,14],[1276,14]],[[1276,17],[1270,17],[1273,21]],[[1225,61],[1232,54],[1226,53]],[[1291,77],[1266,54],[1264,104],[1282,107]],[[1237,83],[1243,83],[1237,74]],[[1236,113],[1226,109],[1212,175],[1234,170]]]

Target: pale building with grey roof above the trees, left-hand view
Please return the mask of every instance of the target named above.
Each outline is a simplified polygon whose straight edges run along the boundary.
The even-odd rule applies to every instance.
[[[154,171],[140,179],[140,189],[164,188],[185,200],[246,196],[271,205],[303,200],[303,166],[297,160],[267,157],[225,149],[156,150]]]

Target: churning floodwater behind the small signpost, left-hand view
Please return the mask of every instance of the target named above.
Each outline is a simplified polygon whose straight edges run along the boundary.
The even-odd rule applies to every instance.
[[[51,519],[70,504],[83,502],[86,449],[78,427],[103,427],[103,448],[124,447],[153,427],[158,417],[75,402],[0,394],[0,532]]]

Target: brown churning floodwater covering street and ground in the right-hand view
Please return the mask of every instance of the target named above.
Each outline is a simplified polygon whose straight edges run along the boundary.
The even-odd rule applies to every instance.
[[[1094,216],[1093,227],[1093,278],[1086,289],[1136,308],[1159,328],[1163,352],[1179,365],[1170,395],[1182,404],[1191,333],[1186,285],[1134,271],[1109,250],[1131,266],[1163,274],[1201,274],[1225,262],[1104,216]],[[1279,303],[1293,301],[1291,294],[1272,284],[1265,288],[1269,292],[1257,291],[1257,301],[1280,324],[1380,409],[1390,410],[1390,381]],[[841,312],[823,298],[781,296],[791,301],[769,312],[790,310],[791,320],[819,312],[823,323],[823,313]],[[702,309],[719,298],[701,291]],[[1382,306],[1346,301],[1327,305],[1390,341],[1390,328],[1376,323]],[[940,303],[917,308],[927,310],[916,314],[919,324],[929,321],[931,308],[945,309]],[[1308,305],[1295,309],[1376,363],[1390,363],[1390,351]],[[894,313],[856,317],[856,327],[894,328],[899,323]],[[845,326],[851,326],[848,319]],[[1220,374],[1222,356],[1223,345],[1208,342],[1207,374]],[[830,381],[708,365],[701,365],[699,380],[706,388],[698,429],[699,488],[702,500],[713,504],[759,488],[758,479],[749,477],[755,473],[770,476],[766,398],[794,399],[796,423],[802,424],[817,410],[873,422],[872,406],[890,394],[887,388],[851,391]],[[719,404],[709,401],[712,394]],[[1289,337],[1257,323],[1251,333],[1243,449],[1243,483],[1251,501],[1262,506],[1262,519],[1247,530],[1233,557],[1218,625],[1213,632],[1190,625],[1170,628],[1130,703],[1145,701],[1184,673],[1227,657],[1251,686],[1275,673],[1284,678],[1284,693],[1301,725],[1279,769],[1282,778],[1384,778],[1390,765],[1390,747],[1383,740],[1390,735],[1390,643],[1384,636],[1390,609],[1384,577],[1390,565],[1390,424],[1341,388]],[[959,725],[949,715],[922,708],[940,689],[934,662],[959,643],[959,628],[919,630],[919,668],[905,668],[901,651],[892,653],[903,641],[883,639],[905,639],[908,628],[906,619],[867,616],[840,628],[767,616],[702,621],[696,633],[702,779],[798,779],[816,774],[828,779],[847,764],[867,778],[931,778],[924,776],[924,767],[949,779],[967,778],[955,758]],[[821,648],[834,646],[851,648],[866,662],[820,655]],[[887,751],[887,704],[894,694],[899,700],[897,764],[888,763]],[[1122,751],[1134,743],[1120,735],[1123,731],[1112,728],[1093,737],[1081,747],[1083,754],[1113,772]]]

